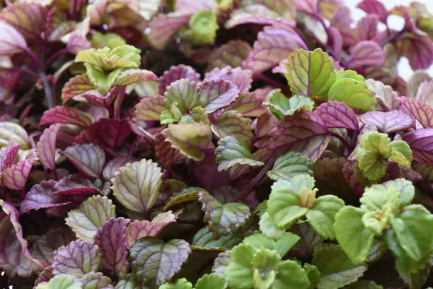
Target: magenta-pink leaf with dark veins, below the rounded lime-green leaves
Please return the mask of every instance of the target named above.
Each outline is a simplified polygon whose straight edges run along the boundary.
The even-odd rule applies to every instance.
[[[357,114],[345,102],[328,101],[316,108],[328,128],[359,131]]]

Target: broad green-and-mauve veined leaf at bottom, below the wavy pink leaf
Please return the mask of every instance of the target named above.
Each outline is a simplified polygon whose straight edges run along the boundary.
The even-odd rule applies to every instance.
[[[184,240],[164,242],[148,238],[135,242],[129,251],[129,259],[132,272],[149,287],[158,288],[180,270],[190,252],[190,244]]]

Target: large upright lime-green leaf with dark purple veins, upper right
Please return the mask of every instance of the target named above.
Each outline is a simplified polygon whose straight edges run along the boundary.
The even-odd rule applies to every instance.
[[[334,63],[320,48],[296,49],[289,55],[284,76],[294,95],[325,96],[335,81]]]

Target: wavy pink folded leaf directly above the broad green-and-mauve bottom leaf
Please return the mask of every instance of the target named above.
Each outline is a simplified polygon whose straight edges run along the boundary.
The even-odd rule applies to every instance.
[[[125,234],[128,247],[143,237],[156,237],[166,225],[176,221],[171,211],[159,213],[151,222],[149,220],[134,220],[127,225]]]

